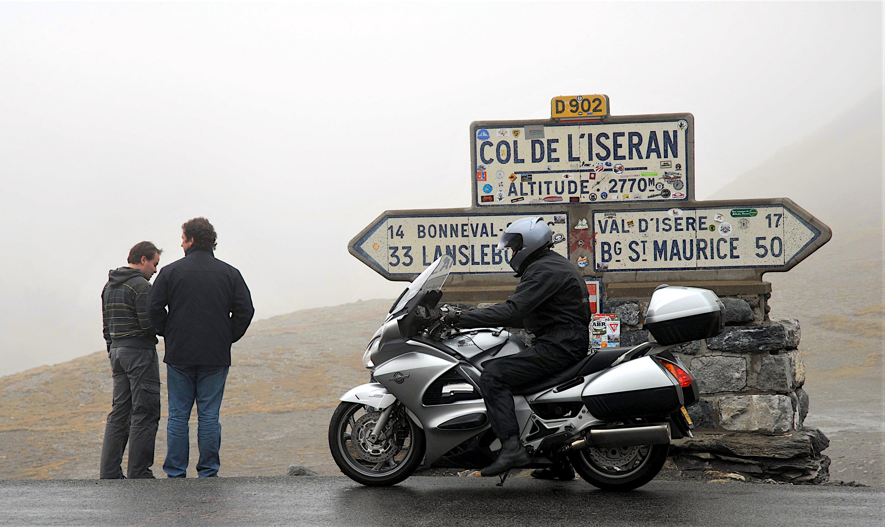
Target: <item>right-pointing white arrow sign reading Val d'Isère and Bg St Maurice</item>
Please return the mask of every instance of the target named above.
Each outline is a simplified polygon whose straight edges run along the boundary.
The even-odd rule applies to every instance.
[[[755,205],[719,201],[684,208],[596,210],[594,268],[785,271],[831,236],[826,225],[789,199],[754,201]]]

